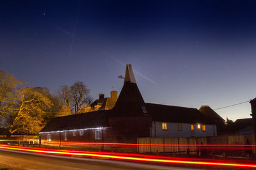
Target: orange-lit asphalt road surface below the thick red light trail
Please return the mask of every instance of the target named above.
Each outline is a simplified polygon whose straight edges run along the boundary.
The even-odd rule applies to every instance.
[[[0,165],[8,165],[10,169],[191,169],[186,167],[158,166],[115,160],[99,160],[55,155],[27,154],[0,150]],[[1,166],[0,166],[1,167]]]

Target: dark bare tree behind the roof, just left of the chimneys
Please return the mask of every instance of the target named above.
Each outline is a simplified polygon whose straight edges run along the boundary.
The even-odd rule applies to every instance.
[[[72,109],[75,114],[79,113],[84,104],[92,102],[92,97],[90,96],[90,89],[81,81],[76,81],[70,87]]]

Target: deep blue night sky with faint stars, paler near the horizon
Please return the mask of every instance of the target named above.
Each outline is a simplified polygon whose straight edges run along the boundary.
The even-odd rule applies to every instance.
[[[256,1],[1,1],[0,69],[94,99],[132,64],[146,103],[212,109],[256,97]],[[250,117],[249,103],[216,110]]]

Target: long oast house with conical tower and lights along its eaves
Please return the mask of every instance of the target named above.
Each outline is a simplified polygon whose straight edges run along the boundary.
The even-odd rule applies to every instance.
[[[106,110],[103,99],[105,98],[100,96],[91,105],[95,111],[52,119],[40,131],[41,143],[136,143],[137,138],[144,137],[217,134],[216,125],[195,108],[145,103],[130,64],[126,66],[124,86],[115,106]]]

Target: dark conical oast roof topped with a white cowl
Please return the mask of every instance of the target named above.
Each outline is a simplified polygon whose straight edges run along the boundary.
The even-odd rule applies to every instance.
[[[144,108],[143,108],[143,107]],[[116,101],[115,110],[118,115],[138,116],[145,115],[145,102],[138,89],[131,64],[127,64],[125,70],[124,86]]]

